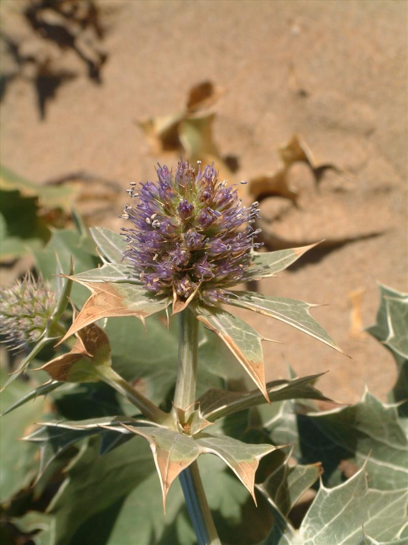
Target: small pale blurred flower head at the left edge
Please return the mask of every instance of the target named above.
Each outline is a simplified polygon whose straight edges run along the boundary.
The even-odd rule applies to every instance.
[[[55,309],[55,295],[42,278],[27,274],[13,286],[0,290],[0,325],[3,341],[11,350],[38,341]]]

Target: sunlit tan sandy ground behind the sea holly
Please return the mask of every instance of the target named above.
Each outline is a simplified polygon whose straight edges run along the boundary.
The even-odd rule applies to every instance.
[[[2,32],[27,51],[40,38],[21,15],[25,0],[3,0]],[[376,1],[138,1],[99,0],[106,27],[98,47],[107,53],[101,83],[86,75],[71,50],[57,60],[75,73],[61,85],[40,119],[29,74],[11,81],[1,104],[2,163],[44,181],[83,170],[116,180],[152,178],[157,160],[137,120],[175,113],[189,88],[211,80],[226,89],[217,102],[214,139],[237,156],[232,181],[279,166],[276,149],[294,133],[325,171],[317,189],[305,165],[291,183],[298,207],[282,198],[262,202],[270,249],[285,241],[325,238],[332,251],[259,289],[329,306],[314,310],[353,359],[272,319],[242,313],[262,334],[269,379],[330,370],[322,390],[355,402],[364,384],[385,398],[395,379],[392,358],[376,341],[350,330],[351,292],[362,288],[362,325],[378,306],[376,280],[407,289],[407,3]],[[3,52],[3,68],[10,55]],[[98,191],[92,186],[92,191]],[[123,197],[98,223],[119,228]],[[268,238],[269,237],[269,238]],[[283,240],[283,243],[282,243]],[[278,245],[279,245],[278,244]]]

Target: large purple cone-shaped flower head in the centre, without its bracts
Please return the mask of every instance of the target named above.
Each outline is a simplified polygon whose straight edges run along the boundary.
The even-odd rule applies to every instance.
[[[260,229],[251,226],[258,203],[243,206],[214,165],[201,169],[199,162],[197,172],[184,161],[175,172],[158,165],[157,177],[128,190],[134,202],[122,217],[134,228],[122,229],[125,258],[152,292],[211,305],[227,301],[260,245],[254,243]]]

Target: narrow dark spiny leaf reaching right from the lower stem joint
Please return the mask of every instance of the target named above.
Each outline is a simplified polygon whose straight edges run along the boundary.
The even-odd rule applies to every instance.
[[[324,373],[296,378],[294,380],[273,380],[266,385],[269,401],[284,401],[285,399],[319,399],[332,401],[322,392],[313,387],[316,379]],[[229,392],[227,390],[211,389],[197,399],[203,417],[215,421],[224,416],[237,413],[264,403],[265,399],[259,390],[251,392]]]

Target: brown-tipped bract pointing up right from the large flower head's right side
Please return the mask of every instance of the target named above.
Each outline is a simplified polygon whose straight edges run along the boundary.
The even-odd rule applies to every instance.
[[[276,252],[258,253],[254,252],[252,262],[245,271],[245,280],[261,280],[275,276],[278,272],[285,270],[289,265],[297,261],[304,253],[311,250],[320,243],[301,246],[300,248],[291,248],[288,250],[278,250]]]

